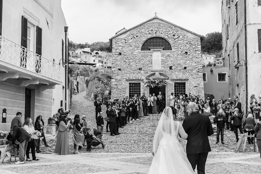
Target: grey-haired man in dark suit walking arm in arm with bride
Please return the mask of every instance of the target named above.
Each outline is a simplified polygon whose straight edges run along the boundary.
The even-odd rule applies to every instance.
[[[183,121],[183,128],[188,134],[186,152],[188,160],[197,173],[205,173],[208,153],[211,151],[208,136],[214,133],[208,116],[200,114],[196,103],[187,106],[188,117]]]

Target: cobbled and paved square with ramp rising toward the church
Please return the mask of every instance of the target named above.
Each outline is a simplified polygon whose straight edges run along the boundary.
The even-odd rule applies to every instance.
[[[71,117],[75,114],[86,115],[87,125],[90,128],[96,127],[95,107],[92,101],[84,98],[85,91],[79,95],[73,95]],[[102,111],[106,107],[102,106]],[[105,116],[105,115],[104,115]],[[86,152],[83,147],[77,155],[57,155],[53,154],[56,140],[48,142],[50,147],[41,146],[42,153],[36,156],[39,161],[25,162],[22,165],[0,164],[0,174],[17,173],[106,173],[106,174],[139,174],[147,173],[151,165],[153,156],[151,155],[153,135],[157,127],[157,117],[144,118],[134,121],[124,128],[120,128],[122,134],[110,136],[104,128],[102,141],[105,144],[93,147],[91,152]],[[246,145],[245,153],[234,153],[235,135],[230,131],[225,131],[224,142],[215,144],[216,136],[210,136],[211,152],[206,162],[206,173],[260,173],[261,160],[259,153],[253,152],[253,145]],[[70,147],[73,152],[72,131],[69,133]],[[180,143],[186,150],[186,140],[180,138]],[[1,159],[2,160],[2,159]],[[13,159],[14,161],[14,159]],[[86,165],[87,164],[87,165]]]

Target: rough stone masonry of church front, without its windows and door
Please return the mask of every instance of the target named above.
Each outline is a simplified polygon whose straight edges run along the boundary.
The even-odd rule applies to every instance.
[[[172,50],[161,51],[162,71],[169,77],[166,95],[174,91],[174,81],[186,81],[186,93],[198,88],[198,94],[204,97],[200,37],[189,37],[175,26],[164,23],[149,23],[138,27],[122,39],[112,40],[112,98],[128,95],[128,77],[136,76],[142,81],[141,92],[148,94],[144,87],[146,76],[155,73],[152,70],[152,51],[140,51],[143,43],[151,37],[166,39]],[[120,53],[119,53],[120,52]],[[169,66],[172,66],[170,70]],[[184,67],[187,67],[184,69]],[[119,70],[118,68],[121,68]],[[142,68],[142,70],[139,70]],[[135,81],[134,78],[133,81]]]

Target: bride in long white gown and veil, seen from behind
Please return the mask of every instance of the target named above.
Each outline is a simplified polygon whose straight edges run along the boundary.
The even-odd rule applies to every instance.
[[[177,112],[175,108],[173,112]],[[178,135],[183,139],[188,137],[180,122],[175,117],[171,107],[166,107],[160,117],[154,139],[154,155],[148,174],[190,174],[195,173],[189,163]]]

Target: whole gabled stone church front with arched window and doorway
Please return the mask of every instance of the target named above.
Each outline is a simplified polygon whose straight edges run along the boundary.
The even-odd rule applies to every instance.
[[[204,97],[202,36],[157,16],[110,38],[112,46],[111,98],[161,91],[193,93]],[[164,80],[166,86],[149,88],[147,81]]]

